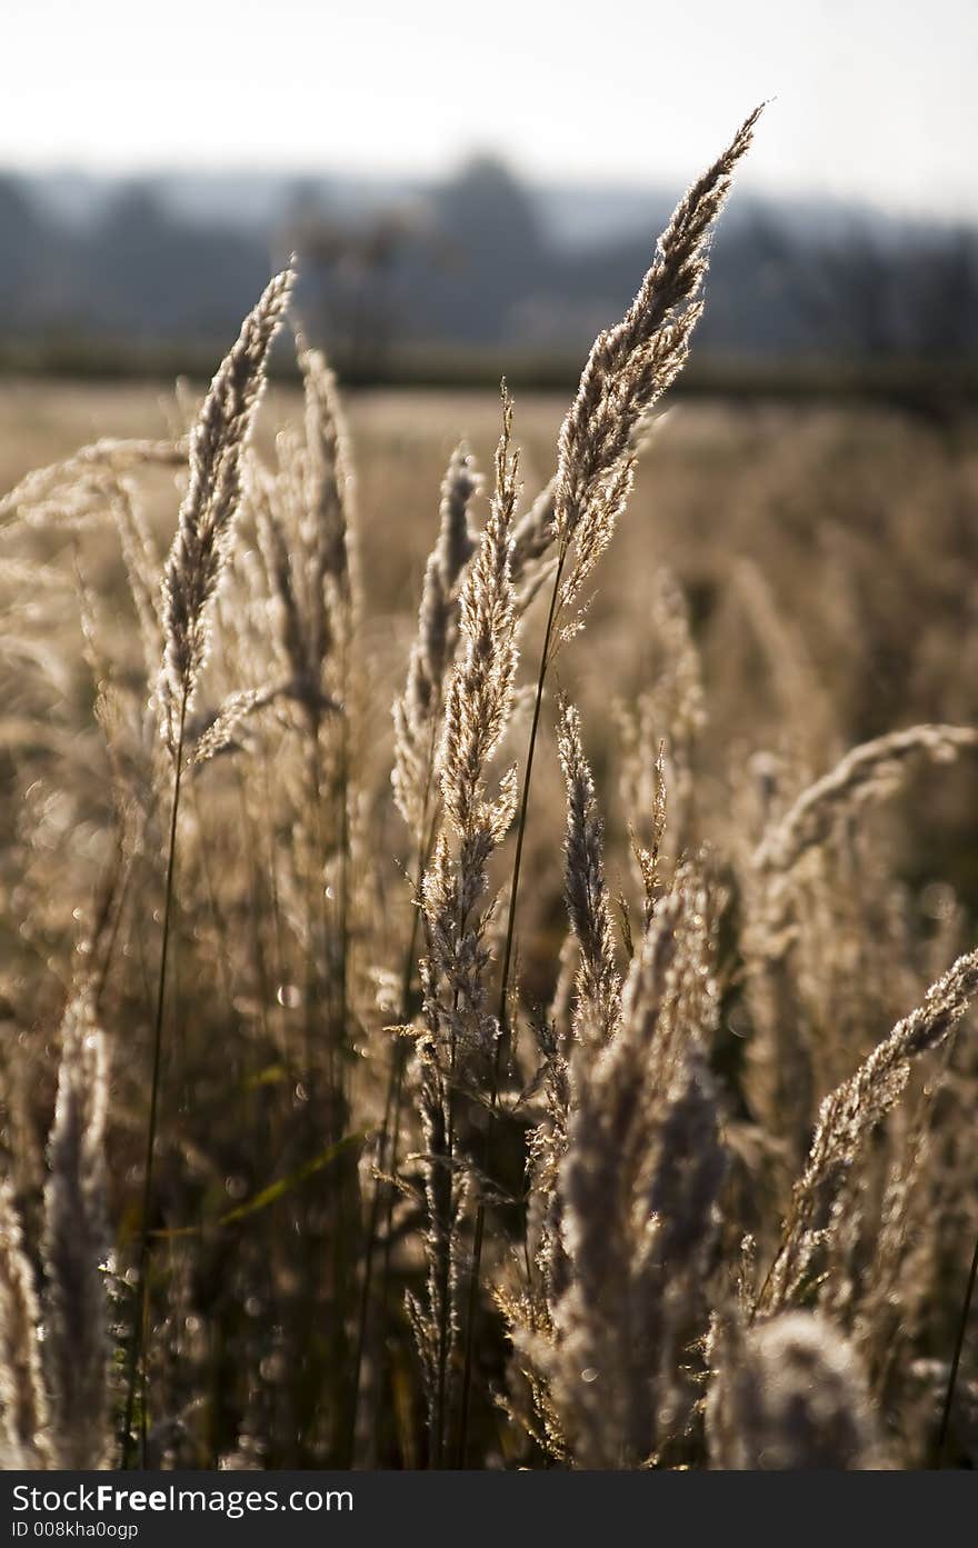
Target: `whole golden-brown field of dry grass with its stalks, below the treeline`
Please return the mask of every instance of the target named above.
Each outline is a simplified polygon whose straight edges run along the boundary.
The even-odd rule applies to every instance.
[[[2,387],[8,1464],[975,1464],[975,426],[650,424],[693,260],[563,432]]]

